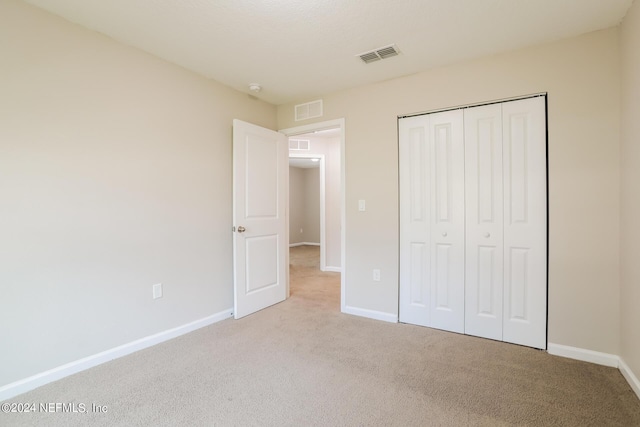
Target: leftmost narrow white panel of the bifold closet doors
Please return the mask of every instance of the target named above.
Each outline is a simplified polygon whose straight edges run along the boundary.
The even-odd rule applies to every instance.
[[[400,321],[429,325],[429,116],[398,122],[400,156]]]

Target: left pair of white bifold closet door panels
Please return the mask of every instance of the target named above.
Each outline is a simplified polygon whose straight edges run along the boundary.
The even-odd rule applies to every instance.
[[[462,111],[400,121],[400,321],[464,331]]]

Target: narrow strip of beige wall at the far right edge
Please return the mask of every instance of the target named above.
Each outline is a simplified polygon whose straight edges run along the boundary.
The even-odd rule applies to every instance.
[[[621,352],[640,378],[640,3],[636,0],[621,31]]]

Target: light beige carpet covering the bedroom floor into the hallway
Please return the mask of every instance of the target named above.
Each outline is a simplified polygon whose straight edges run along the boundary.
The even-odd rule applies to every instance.
[[[617,369],[340,313],[340,277],[292,250],[291,298],[10,402],[106,414],[0,414],[41,426],[640,426]]]

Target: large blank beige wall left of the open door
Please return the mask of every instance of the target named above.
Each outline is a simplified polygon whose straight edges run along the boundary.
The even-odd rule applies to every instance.
[[[13,0],[0,58],[0,386],[233,307],[232,119],[275,107]]]

